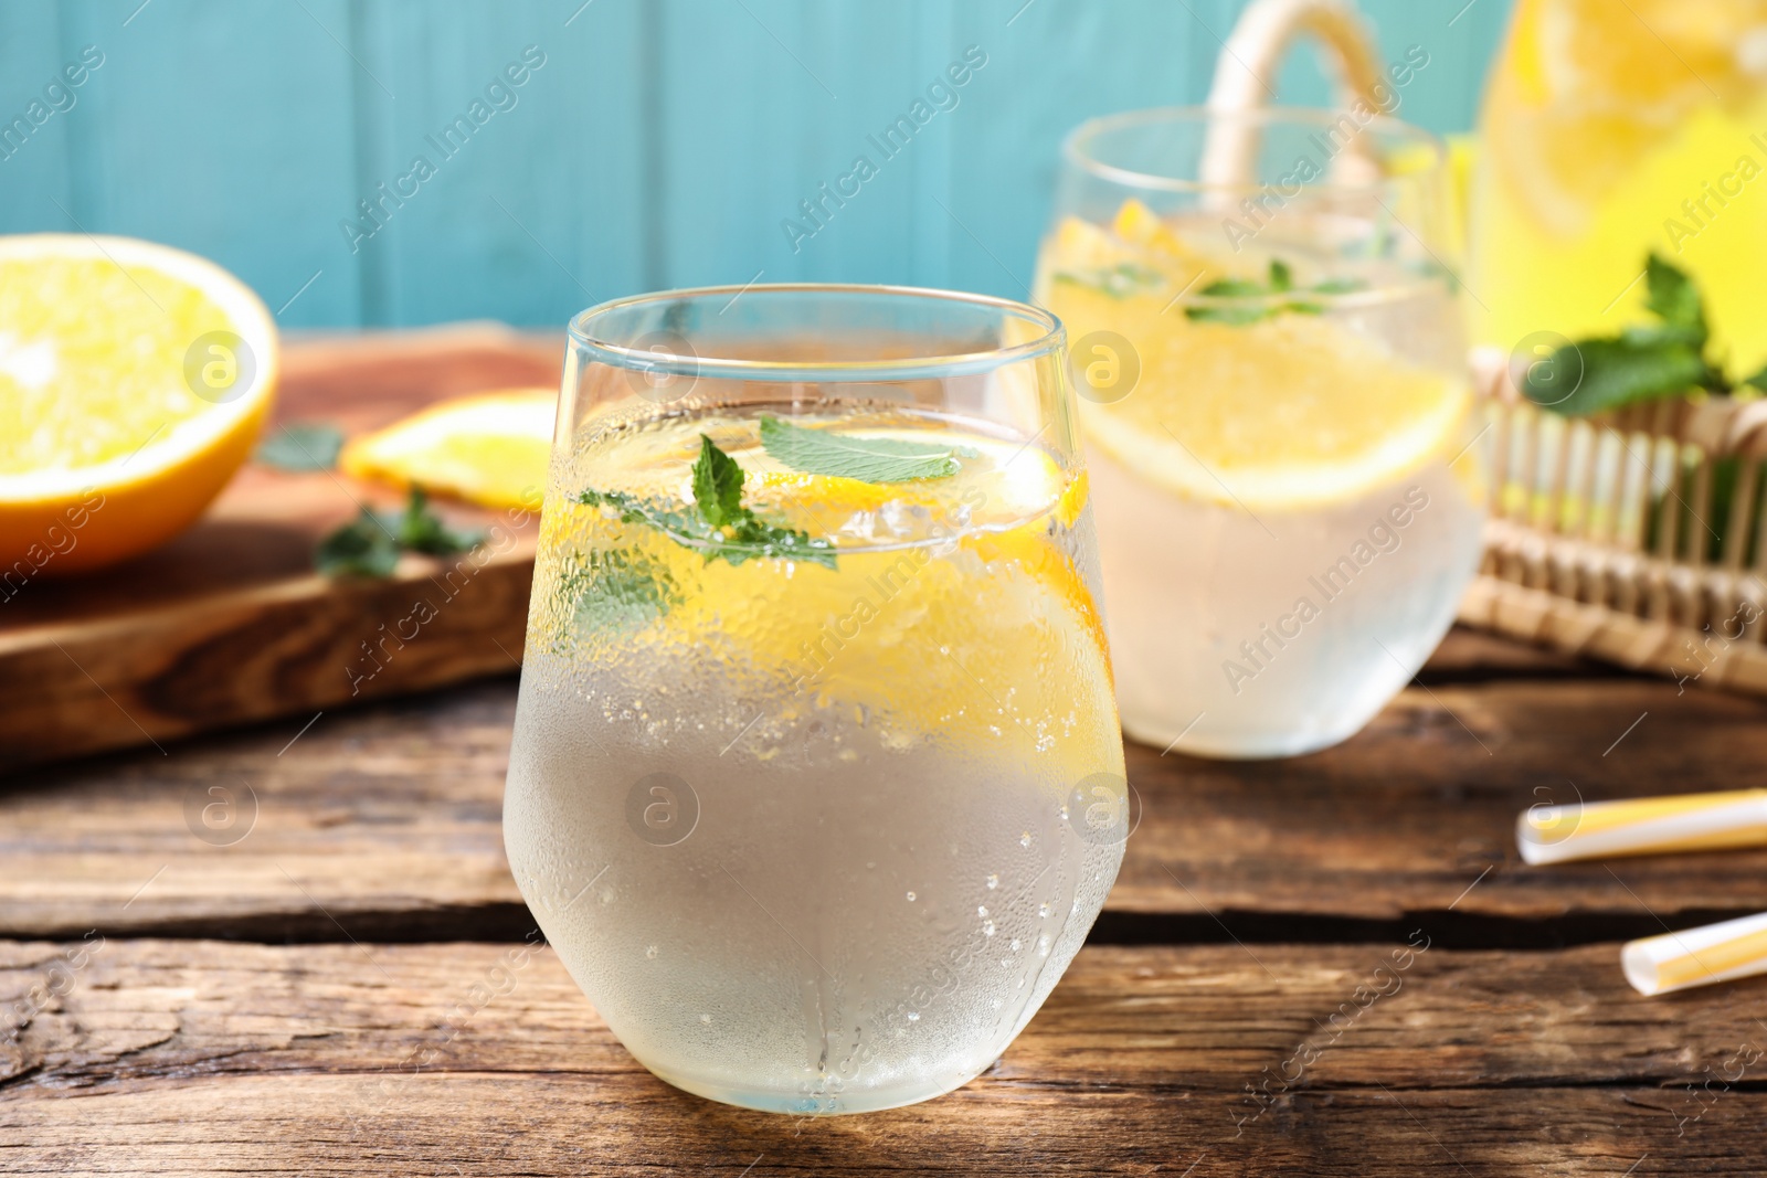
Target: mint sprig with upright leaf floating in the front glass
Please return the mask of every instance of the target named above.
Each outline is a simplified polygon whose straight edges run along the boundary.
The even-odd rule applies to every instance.
[[[746,473],[737,459],[700,434],[700,457],[693,464],[693,509],[670,507],[624,491],[581,491],[578,503],[613,509],[620,523],[647,525],[684,547],[698,549],[707,562],[770,558],[834,569],[834,544],[808,532],[767,523],[742,503]]]

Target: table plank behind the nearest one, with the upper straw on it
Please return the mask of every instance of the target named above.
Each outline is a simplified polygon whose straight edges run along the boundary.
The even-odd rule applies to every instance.
[[[19,775],[0,795],[0,933],[519,938],[532,925],[500,830],[512,706],[500,680],[327,712],[304,735],[299,717]],[[1348,744],[1292,761],[1131,745],[1145,816],[1097,936],[1392,940],[1414,913],[1452,911],[1445,938],[1500,947],[1767,910],[1767,851],[1610,871],[1527,867],[1513,846],[1518,812],[1576,791],[1767,784],[1763,719],[1767,705],[1643,678],[1491,680],[1410,689]],[[249,835],[200,841],[189,798],[246,786]]]

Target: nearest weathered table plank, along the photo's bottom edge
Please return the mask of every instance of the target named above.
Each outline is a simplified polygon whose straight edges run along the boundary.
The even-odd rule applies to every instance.
[[[57,982],[72,952],[0,945],[7,1010],[60,991],[0,1047],[4,1173],[1742,1174],[1767,1144],[1763,984],[1643,1000],[1612,945],[1385,984],[1369,947],[1085,948],[977,1081],[820,1121],[670,1090],[544,947],[111,940]]]

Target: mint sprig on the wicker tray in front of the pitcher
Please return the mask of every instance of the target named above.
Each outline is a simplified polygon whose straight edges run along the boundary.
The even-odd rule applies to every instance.
[[[1710,359],[1700,288],[1656,253],[1645,261],[1645,309],[1656,323],[1567,343],[1544,362],[1530,364],[1518,381],[1521,396],[1564,417],[1589,417],[1695,390],[1725,394],[1739,385],[1767,390],[1767,369],[1732,383]],[[1576,381],[1569,394],[1567,381]]]

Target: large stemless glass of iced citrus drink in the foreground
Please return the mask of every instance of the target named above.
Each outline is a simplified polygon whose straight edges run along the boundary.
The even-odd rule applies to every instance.
[[[926,1100],[1122,860],[1062,327],[866,286],[571,323],[504,809],[548,941],[687,1091]]]

